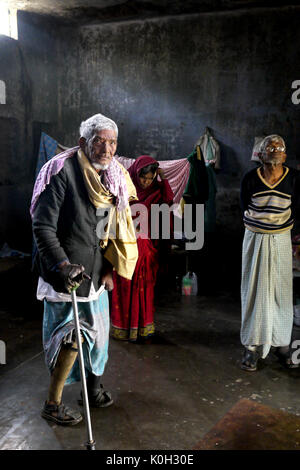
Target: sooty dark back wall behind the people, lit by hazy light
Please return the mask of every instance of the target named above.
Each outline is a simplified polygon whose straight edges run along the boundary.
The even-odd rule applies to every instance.
[[[84,26],[60,43],[60,130],[77,140],[102,112],[120,128],[118,153],[185,156],[210,127],[221,145],[218,221],[241,229],[238,192],[254,136],[279,133],[299,155],[300,8],[265,8]]]

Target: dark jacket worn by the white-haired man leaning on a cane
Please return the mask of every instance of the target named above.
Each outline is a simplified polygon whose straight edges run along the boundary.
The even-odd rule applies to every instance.
[[[41,193],[33,216],[33,234],[37,245],[35,267],[44,281],[57,292],[66,292],[55,266],[63,260],[82,264],[95,289],[100,287],[103,252],[96,235],[101,217],[89,200],[77,154],[65,161],[64,167],[51,177]],[[77,289],[87,297],[91,281]]]

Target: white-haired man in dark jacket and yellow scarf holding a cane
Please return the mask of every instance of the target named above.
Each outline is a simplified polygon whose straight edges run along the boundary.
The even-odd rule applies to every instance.
[[[117,125],[101,114],[82,122],[79,147],[47,162],[33,191],[37,298],[44,301],[43,345],[51,374],[41,415],[60,425],[82,420],[81,413],[62,403],[64,385],[80,380],[70,295],[74,289],[90,406],[113,403],[100,383],[108,358],[107,291],[113,288],[112,269],[131,279],[138,256],[129,209],[136,191],[127,171],[114,158],[117,137]],[[111,237],[108,227],[106,235],[98,238],[98,224],[107,208],[114,213],[109,224],[114,220],[116,233],[126,237]]]

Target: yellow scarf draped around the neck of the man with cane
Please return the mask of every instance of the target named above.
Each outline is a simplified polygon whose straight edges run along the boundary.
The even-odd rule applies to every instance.
[[[104,257],[120,276],[132,279],[138,259],[138,249],[129,204],[124,210],[117,211],[114,196],[103,186],[99,174],[84,152],[79,149],[77,155],[91,203],[96,209],[108,210],[104,235],[101,230],[103,236],[100,240],[101,248],[106,248]],[[117,163],[126,180],[129,200],[137,200],[136,189],[128,171],[119,162]]]

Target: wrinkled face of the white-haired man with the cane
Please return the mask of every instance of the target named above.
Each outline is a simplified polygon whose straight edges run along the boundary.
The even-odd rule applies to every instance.
[[[117,136],[112,129],[103,129],[87,144],[87,157],[96,170],[106,170],[117,150]]]

